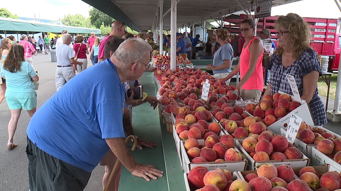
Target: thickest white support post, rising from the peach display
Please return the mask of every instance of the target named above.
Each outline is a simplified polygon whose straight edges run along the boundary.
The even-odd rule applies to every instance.
[[[176,0],[170,1],[170,69],[176,69]]]

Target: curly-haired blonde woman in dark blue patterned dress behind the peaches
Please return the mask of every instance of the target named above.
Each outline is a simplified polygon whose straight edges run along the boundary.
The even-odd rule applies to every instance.
[[[292,95],[285,74],[293,75],[301,99],[309,104],[315,125],[326,124],[324,104],[317,90],[318,77],[322,76],[321,64],[310,46],[308,23],[299,15],[289,13],[278,17],[275,29],[280,48],[269,61],[270,82],[264,94],[283,91]]]

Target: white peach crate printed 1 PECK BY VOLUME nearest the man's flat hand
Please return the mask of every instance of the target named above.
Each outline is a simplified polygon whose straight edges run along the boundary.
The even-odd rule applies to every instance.
[[[242,161],[231,161],[231,162],[202,162],[202,163],[192,163],[190,159],[188,158],[188,155],[186,153],[184,142],[180,142],[181,146],[181,153],[182,153],[182,166],[185,171],[185,173],[189,173],[190,170],[196,166],[203,166],[206,167],[208,170],[214,170],[216,168],[221,169],[227,169],[229,171],[244,171],[246,170],[248,161],[243,158]],[[199,144],[204,144],[204,139],[198,140]],[[239,151],[236,147],[235,149]]]

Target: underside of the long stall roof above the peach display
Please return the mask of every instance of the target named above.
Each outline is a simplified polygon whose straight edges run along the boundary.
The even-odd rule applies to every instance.
[[[150,30],[155,19],[159,0],[83,0],[107,15],[124,22],[130,28]],[[272,6],[282,5],[300,0],[272,0]],[[171,0],[164,0],[163,13],[170,8]],[[222,15],[241,11],[236,0],[177,0],[177,26],[197,23]],[[244,7],[251,6],[251,0],[238,0]],[[170,12],[163,17],[163,29],[170,29]]]

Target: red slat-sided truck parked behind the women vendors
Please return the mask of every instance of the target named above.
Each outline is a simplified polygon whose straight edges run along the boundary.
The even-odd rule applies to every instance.
[[[234,50],[237,50],[236,56],[240,55],[244,43],[244,39],[239,31],[240,22],[246,18],[248,18],[247,15],[230,15],[224,19],[225,22],[229,23],[224,25],[224,28],[234,35],[232,45]],[[278,16],[260,18],[257,23],[257,33],[263,29],[269,29],[276,47],[278,45],[274,26],[277,18]],[[309,17],[303,17],[303,19],[309,23],[311,28],[311,47],[318,54],[329,56],[329,71],[337,71],[339,69],[341,51],[341,34],[337,33],[338,19]]]

